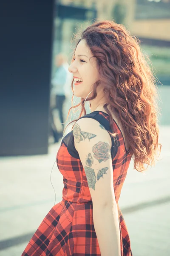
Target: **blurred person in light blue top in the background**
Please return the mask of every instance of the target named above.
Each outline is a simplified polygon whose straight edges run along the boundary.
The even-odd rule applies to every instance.
[[[67,56],[64,53],[59,53],[54,58],[54,64],[57,67],[54,78],[51,80],[51,98],[54,99],[54,107],[51,109],[51,129],[53,132],[54,143],[58,142],[61,134],[57,131],[57,127],[54,122],[54,110],[59,111],[59,119],[62,125],[62,131],[64,130],[63,121],[63,106],[65,102],[65,94],[67,93],[68,83],[68,63]]]

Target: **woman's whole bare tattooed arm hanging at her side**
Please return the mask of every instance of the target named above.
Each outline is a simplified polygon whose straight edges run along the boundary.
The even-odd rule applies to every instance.
[[[120,256],[119,215],[113,189],[111,137],[94,119],[74,125],[74,144],[93,201],[93,220],[101,256]]]

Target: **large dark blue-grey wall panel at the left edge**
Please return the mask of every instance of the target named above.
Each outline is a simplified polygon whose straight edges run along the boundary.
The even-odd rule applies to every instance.
[[[1,1],[0,156],[48,152],[53,8]]]

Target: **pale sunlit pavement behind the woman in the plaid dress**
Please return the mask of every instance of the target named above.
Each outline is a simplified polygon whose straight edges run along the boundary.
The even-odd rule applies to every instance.
[[[119,200],[133,256],[170,255],[170,126],[161,126],[160,142],[162,160],[145,174],[131,161]],[[51,145],[48,155],[0,158],[0,256],[20,256],[53,207],[50,174],[58,147]],[[63,182],[56,164],[51,179],[57,204]]]

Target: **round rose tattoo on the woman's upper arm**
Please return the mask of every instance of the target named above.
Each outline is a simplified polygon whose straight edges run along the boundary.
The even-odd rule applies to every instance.
[[[99,141],[93,146],[94,157],[101,163],[111,157],[111,149],[108,143]]]

